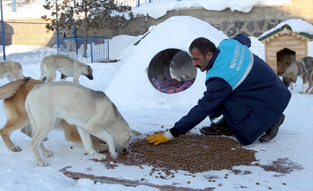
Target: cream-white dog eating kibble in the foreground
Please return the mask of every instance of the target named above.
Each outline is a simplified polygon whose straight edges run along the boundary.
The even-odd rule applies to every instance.
[[[114,145],[121,153],[126,153],[131,136],[142,136],[140,132],[129,128],[105,93],[75,82],[53,81],[35,85],[26,97],[25,109],[35,133],[30,147],[37,165],[41,167],[48,163],[41,159],[38,148],[46,157],[52,156],[42,140],[61,119],[77,126],[86,151],[96,160],[104,160],[106,156],[94,150],[90,134],[108,144],[109,153],[114,159],[117,158]]]

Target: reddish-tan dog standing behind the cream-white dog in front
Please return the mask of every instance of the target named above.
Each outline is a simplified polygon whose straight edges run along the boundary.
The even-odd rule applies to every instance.
[[[4,100],[3,110],[7,113],[7,123],[0,129],[0,134],[3,142],[11,151],[19,152],[22,150],[10,139],[10,135],[13,131],[21,129],[21,132],[28,135],[28,137],[31,137],[32,131],[28,115],[25,110],[25,99],[28,92],[37,84],[44,84],[44,82],[24,78],[21,80],[15,80],[0,87],[0,100]],[[65,140],[82,145],[76,126],[69,125],[64,120],[60,120],[58,129],[64,131]],[[105,151],[109,150],[109,147],[106,144],[99,143],[100,140],[96,137],[93,138],[94,139],[91,141],[95,149]]]

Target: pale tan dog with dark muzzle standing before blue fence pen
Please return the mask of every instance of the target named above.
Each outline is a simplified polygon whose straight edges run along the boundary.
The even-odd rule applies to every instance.
[[[86,76],[89,80],[94,79],[89,65],[63,54],[51,54],[44,57],[41,61],[40,69],[41,76],[38,80],[47,80],[47,82],[55,79],[57,70],[61,72],[61,80],[65,80],[70,76],[73,77],[73,81],[79,83],[80,75]]]

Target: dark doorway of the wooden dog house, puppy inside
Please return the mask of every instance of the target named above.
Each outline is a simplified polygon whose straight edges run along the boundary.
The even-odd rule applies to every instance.
[[[283,75],[291,63],[295,61],[295,52],[284,48],[276,53],[277,57],[277,74]]]

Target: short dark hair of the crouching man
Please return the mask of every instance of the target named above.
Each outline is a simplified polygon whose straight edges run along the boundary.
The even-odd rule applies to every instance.
[[[189,46],[189,53],[191,54],[191,51],[193,49],[197,49],[200,54],[203,55],[203,58],[205,59],[205,55],[208,52],[214,52],[216,50],[216,46],[213,42],[211,42],[209,39],[206,39],[204,37],[199,37],[197,39],[194,39],[192,43]]]

